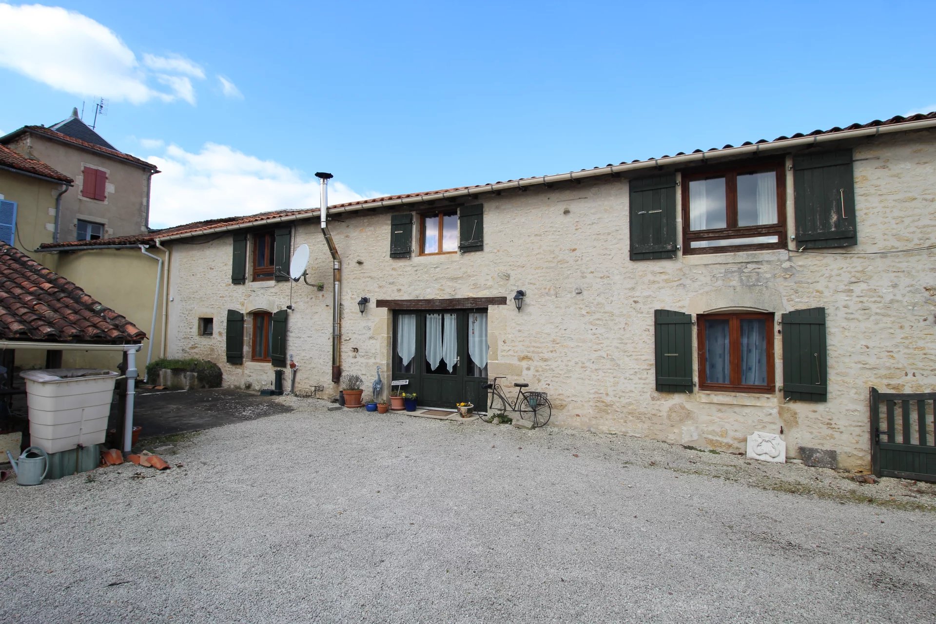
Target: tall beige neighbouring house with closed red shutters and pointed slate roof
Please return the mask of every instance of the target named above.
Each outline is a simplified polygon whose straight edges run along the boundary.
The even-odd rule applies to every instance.
[[[145,234],[155,165],[120,152],[82,122],[78,109],[50,127],[25,125],[0,144],[74,180],[62,197],[51,242]]]

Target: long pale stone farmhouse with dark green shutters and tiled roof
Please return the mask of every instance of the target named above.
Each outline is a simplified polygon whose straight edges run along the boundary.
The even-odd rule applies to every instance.
[[[292,358],[333,397],[334,333],[344,372],[427,407],[483,410],[505,375],[550,425],[736,452],[766,431],[866,469],[869,387],[936,388],[934,180],[929,113],[331,206],[340,327],[318,210],[132,240],[168,250],[168,356],[226,385]]]

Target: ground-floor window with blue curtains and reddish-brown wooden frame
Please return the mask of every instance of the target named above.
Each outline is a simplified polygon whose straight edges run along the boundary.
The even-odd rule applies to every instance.
[[[700,314],[699,387],[773,392],[772,328],[773,314]]]

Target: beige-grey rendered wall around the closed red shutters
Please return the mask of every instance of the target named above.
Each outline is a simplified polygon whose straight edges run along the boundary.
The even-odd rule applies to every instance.
[[[149,172],[105,154],[82,150],[65,143],[26,133],[9,147],[37,158],[75,181],[62,197],[59,240],[75,240],[78,219],[105,225],[105,238],[146,233]],[[108,172],[107,199],[81,196],[85,166]]]

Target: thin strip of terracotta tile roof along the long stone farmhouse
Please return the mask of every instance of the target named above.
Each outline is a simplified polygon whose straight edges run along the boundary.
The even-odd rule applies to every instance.
[[[748,146],[748,145],[759,145],[759,144],[764,144],[764,143],[775,143],[777,141],[788,140],[790,138],[803,138],[803,137],[813,137],[813,136],[818,136],[818,135],[829,135],[829,134],[835,134],[838,132],[845,132],[848,130],[859,130],[863,128],[873,128],[877,126],[894,125],[897,123],[923,122],[923,121],[929,121],[929,120],[936,121],[936,111],[925,113],[925,114],[919,113],[919,114],[911,115],[910,117],[902,117],[898,115],[896,117],[891,117],[890,119],[885,120],[885,121],[874,120],[873,122],[869,122],[869,123],[852,123],[851,125],[845,126],[843,128],[839,126],[835,126],[833,128],[829,128],[828,130],[813,130],[812,132],[808,134],[797,132],[797,134],[791,135],[790,137],[782,136],[782,137],[774,138],[773,140],[761,138],[753,142],[745,141],[744,143],[741,143],[739,147]],[[692,153],[720,152],[722,150],[733,149],[734,147],[735,147],[734,145],[725,145],[724,147],[721,147],[721,148],[713,147],[713,148],[709,148],[708,150],[695,150]],[[676,154],[673,154],[673,156],[683,156],[683,155],[686,155],[686,152],[678,152]],[[716,154],[713,154],[713,155],[716,155]],[[652,167],[655,165],[663,166],[665,165],[665,163],[660,163],[658,161],[662,161],[665,158],[671,158],[671,157],[672,156],[668,154],[664,154],[663,156],[651,157],[645,160],[636,159],[630,162],[624,161],[620,163],[620,165],[634,165],[634,164],[642,163],[642,164],[646,164],[647,167]],[[614,167],[614,165],[609,163],[605,167],[592,167],[592,168],[602,169],[606,167]],[[588,171],[588,170],[589,169],[579,169],[578,171]],[[574,173],[576,172],[571,171],[569,173],[561,174],[561,175],[570,176],[571,174],[574,174]],[[610,171],[608,171],[608,173],[610,173]],[[382,202],[423,197],[423,196],[427,196],[427,197],[432,196],[431,198],[435,199],[435,198],[440,198],[440,197],[445,196],[446,193],[455,193],[456,191],[472,191],[472,190],[477,189],[478,193],[485,193],[485,192],[494,190],[490,187],[495,184],[505,184],[508,182],[519,183],[521,181],[534,181],[535,183],[535,181],[541,181],[541,180],[545,181],[545,178],[548,178],[548,176],[533,176],[530,178],[518,178],[516,180],[487,182],[484,184],[475,184],[473,186],[456,186],[453,188],[439,189],[435,191],[422,191],[419,193],[407,193],[403,195],[389,195],[389,196],[373,197],[369,199],[360,199],[358,201],[350,201],[344,204],[332,204],[332,205],[329,205],[329,210],[334,210],[334,209],[339,209],[339,208],[353,208],[353,207],[367,208],[368,205],[381,204]],[[464,194],[461,193],[461,195],[463,196]],[[253,214],[249,216],[227,217],[223,219],[212,219],[209,221],[197,221],[197,222],[185,224],[185,225],[176,225],[175,227],[169,227],[163,230],[154,230],[150,234],[142,234],[138,236],[119,237],[115,239],[73,240],[70,242],[43,243],[41,247],[57,249],[60,247],[80,248],[80,247],[88,247],[88,246],[94,246],[94,245],[110,245],[110,244],[114,244],[114,245],[152,244],[154,240],[157,238],[168,239],[173,236],[178,236],[182,234],[193,235],[195,233],[201,233],[201,232],[204,232],[205,234],[210,234],[212,230],[223,229],[223,228],[230,227],[230,226],[250,225],[252,223],[260,224],[260,223],[263,223],[264,221],[273,221],[281,217],[300,219],[300,218],[305,218],[305,217],[311,218],[317,215],[318,215],[317,208],[300,209],[300,210],[274,210],[271,212],[261,212],[259,214]]]

